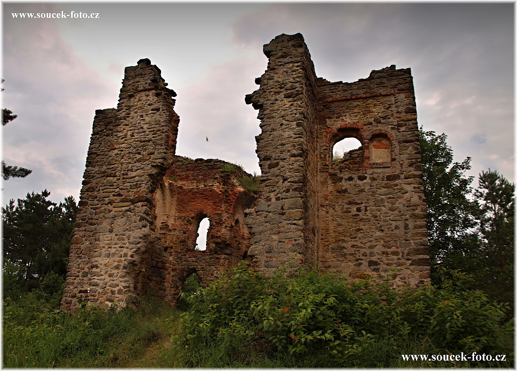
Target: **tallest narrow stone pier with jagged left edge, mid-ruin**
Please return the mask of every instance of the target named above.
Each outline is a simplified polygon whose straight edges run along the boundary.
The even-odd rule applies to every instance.
[[[318,223],[316,80],[300,34],[279,36],[264,46],[268,69],[246,97],[258,109],[261,135],[256,153],[262,171],[257,207],[248,211],[250,251],[257,269],[300,265],[316,250]]]

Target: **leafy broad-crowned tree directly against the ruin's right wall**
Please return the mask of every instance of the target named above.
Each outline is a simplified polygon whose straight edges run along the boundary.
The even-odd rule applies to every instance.
[[[470,157],[453,162],[447,136],[434,131],[419,132],[422,177],[427,202],[427,227],[432,265],[454,254],[464,254],[477,242],[474,232],[477,204],[472,195]]]

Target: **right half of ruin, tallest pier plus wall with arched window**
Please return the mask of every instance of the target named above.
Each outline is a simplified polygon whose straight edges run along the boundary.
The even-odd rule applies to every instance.
[[[430,277],[412,76],[390,66],[353,83],[317,78],[303,37],[264,46],[258,109],[263,173],[248,212],[249,255],[270,273],[313,261],[352,278],[419,285]],[[333,160],[333,145],[362,146]]]

